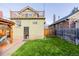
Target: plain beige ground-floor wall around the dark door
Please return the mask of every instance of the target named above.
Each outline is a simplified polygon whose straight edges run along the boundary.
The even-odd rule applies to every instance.
[[[13,27],[14,39],[24,39],[24,27],[29,27],[29,39],[40,39],[44,38],[44,20],[20,20],[21,26]],[[37,24],[33,24],[33,22]],[[14,20],[16,23],[16,20]]]

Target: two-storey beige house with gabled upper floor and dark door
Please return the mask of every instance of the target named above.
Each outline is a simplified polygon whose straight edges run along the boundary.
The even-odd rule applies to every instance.
[[[15,22],[13,39],[44,38],[44,11],[37,11],[27,6],[19,11],[10,11],[10,18]]]

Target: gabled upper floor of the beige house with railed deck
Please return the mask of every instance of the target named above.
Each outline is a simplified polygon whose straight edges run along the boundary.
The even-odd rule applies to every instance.
[[[11,18],[45,18],[44,11],[37,11],[29,6],[20,11],[10,11]]]

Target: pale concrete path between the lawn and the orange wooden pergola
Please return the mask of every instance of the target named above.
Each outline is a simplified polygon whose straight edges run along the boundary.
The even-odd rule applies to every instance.
[[[8,46],[8,48],[3,51],[2,56],[10,56],[13,52],[15,52],[20,46],[22,46],[26,41],[17,40],[14,44]]]

